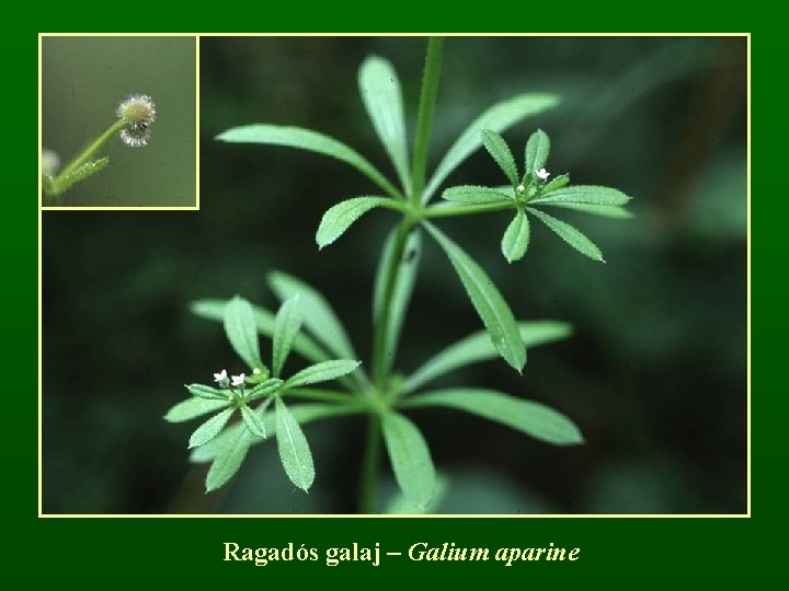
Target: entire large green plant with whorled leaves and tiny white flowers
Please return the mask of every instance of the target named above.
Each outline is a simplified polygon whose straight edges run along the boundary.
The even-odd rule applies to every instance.
[[[276,314],[253,306],[241,298],[229,302],[202,300],[192,304],[198,316],[224,322],[230,344],[251,369],[252,375],[215,374],[219,389],[186,386],[192,397],[175,405],[165,416],[182,421],[220,410],[192,436],[192,460],[211,462],[206,479],[214,490],[238,471],[249,448],[275,434],[279,456],[290,480],[307,490],[315,468],[301,426],[350,414],[368,417],[366,455],[362,468],[359,511],[371,512],[379,471],[382,439],[395,477],[413,511],[426,510],[444,489],[436,478],[431,453],[419,428],[403,414],[423,407],[464,410],[523,431],[542,441],[569,445],[582,442],[576,426],[561,413],[542,404],[479,387],[423,391],[435,378],[462,366],[502,357],[522,372],[529,347],[570,334],[564,323],[517,322],[499,289],[466,252],[439,230],[441,218],[512,210],[515,216],[504,232],[501,250],[513,263],[522,258],[529,243],[528,217],[542,221],[584,255],[603,260],[601,251],[579,230],[544,212],[541,207],[571,208],[590,213],[627,217],[621,208],[629,197],[596,186],[570,186],[569,176],[549,181],[545,166],[550,142],[536,131],[525,148],[523,174],[500,132],[558,104],[548,94],[523,94],[499,103],[478,117],[458,138],[426,182],[427,146],[436,101],[444,42],[431,38],[416,121],[413,158],[409,160],[400,86],[386,60],[370,57],[359,70],[359,88],[373,125],[397,171],[398,188],[366,159],[344,143],[298,127],[249,125],[218,136],[226,142],[265,143],[311,150],[344,161],[369,177],[382,195],[344,200],[330,208],[317,232],[320,248],[338,240],[359,217],[375,208],[400,215],[400,221],[385,241],[375,278],[373,359],[368,373],[359,366],[351,339],[325,299],[313,288],[283,273],[273,273],[268,282],[281,300]],[[444,202],[430,205],[446,176],[470,153],[484,146],[504,172],[506,187],[459,186],[443,192]],[[444,251],[456,270],[485,331],[468,336],[428,359],[409,375],[392,370],[398,340],[411,299],[426,232]],[[304,329],[302,329],[304,328]],[[261,361],[258,334],[273,339],[268,368]],[[289,350],[312,364],[283,380],[281,372]],[[336,390],[312,387],[336,380]],[[262,402],[258,402],[264,398]],[[304,399],[300,404],[293,401]],[[286,405],[285,399],[288,399]],[[250,403],[255,402],[258,406]],[[273,405],[273,409],[272,409]],[[241,420],[228,425],[239,409]]]

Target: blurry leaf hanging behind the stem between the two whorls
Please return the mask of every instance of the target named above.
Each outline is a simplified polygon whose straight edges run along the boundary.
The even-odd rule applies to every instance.
[[[375,291],[373,296],[373,322],[376,322],[380,306],[384,302],[384,289],[386,283],[385,270],[392,264],[395,256],[395,241],[397,240],[397,228],[389,233],[387,241],[381,251],[381,258],[378,263],[378,271],[376,273]],[[416,274],[419,271],[420,257],[422,255],[422,234],[419,230],[413,230],[408,239],[405,239],[405,247],[403,248],[402,258],[398,265],[395,278],[395,288],[392,289],[391,302],[389,306],[389,331],[387,334],[386,351],[384,359],[386,369],[389,370],[395,361],[397,344],[400,338],[400,331],[405,312],[408,311],[409,301],[413,293]]]

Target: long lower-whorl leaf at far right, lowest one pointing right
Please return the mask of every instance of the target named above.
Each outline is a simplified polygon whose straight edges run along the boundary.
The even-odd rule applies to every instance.
[[[556,445],[583,442],[578,427],[561,413],[544,404],[515,398],[493,390],[471,387],[437,390],[421,394],[408,405],[457,408],[501,422]]]

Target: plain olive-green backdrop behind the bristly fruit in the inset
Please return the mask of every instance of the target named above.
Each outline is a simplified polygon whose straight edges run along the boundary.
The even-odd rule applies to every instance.
[[[148,146],[118,137],[110,165],[60,197],[62,206],[196,206],[196,43],[194,37],[42,38],[42,141],[68,163],[116,119],[130,94],[157,108]]]

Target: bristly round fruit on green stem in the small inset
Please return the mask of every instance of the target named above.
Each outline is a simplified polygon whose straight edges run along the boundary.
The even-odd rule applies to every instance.
[[[116,135],[126,146],[139,148],[150,138],[150,126],[156,120],[156,105],[146,94],[134,94],[125,99],[117,107],[117,120],[99,136],[59,173],[57,155],[50,150],[42,152],[42,188],[45,205],[57,205],[66,190],[77,183],[93,176],[110,163],[108,157],[99,157],[99,152]]]

